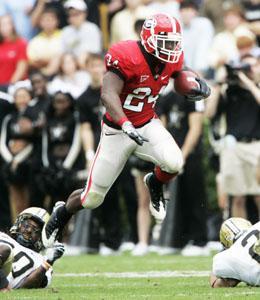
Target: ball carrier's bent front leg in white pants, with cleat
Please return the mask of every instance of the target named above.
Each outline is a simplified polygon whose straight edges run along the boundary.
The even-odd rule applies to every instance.
[[[149,139],[149,143],[138,147],[135,154],[156,165],[154,171],[148,173],[144,180],[151,195],[151,213],[160,222],[166,215],[163,184],[173,179],[181,170],[183,166],[182,153],[160,120],[154,119],[139,130],[140,134]]]

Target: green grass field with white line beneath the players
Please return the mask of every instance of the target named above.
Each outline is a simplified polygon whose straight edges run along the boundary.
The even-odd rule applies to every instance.
[[[260,299],[260,289],[209,286],[211,257],[178,255],[64,257],[56,263],[52,284],[42,290],[13,290],[0,299],[166,300]]]

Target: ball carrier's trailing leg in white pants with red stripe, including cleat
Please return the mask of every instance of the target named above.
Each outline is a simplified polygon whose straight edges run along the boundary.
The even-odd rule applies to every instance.
[[[135,147],[136,144],[122,131],[103,125],[102,138],[87,184],[84,189],[74,191],[66,204],[57,202],[50,220],[43,228],[42,240],[45,247],[51,246],[60,236],[73,214],[83,208],[94,209],[102,204]]]

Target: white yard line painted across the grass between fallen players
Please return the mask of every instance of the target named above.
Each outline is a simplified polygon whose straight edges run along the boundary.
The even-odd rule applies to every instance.
[[[104,273],[55,273],[55,277],[107,277],[107,278],[171,278],[208,277],[210,271],[148,271],[148,272],[104,272]]]

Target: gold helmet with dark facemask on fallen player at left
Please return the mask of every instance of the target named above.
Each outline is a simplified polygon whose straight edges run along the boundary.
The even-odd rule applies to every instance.
[[[43,249],[42,228],[49,218],[50,215],[45,209],[29,207],[17,216],[14,225],[10,228],[10,234],[22,246],[40,252]],[[34,224],[29,220],[34,221]]]

